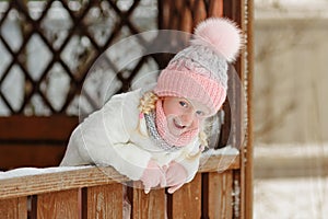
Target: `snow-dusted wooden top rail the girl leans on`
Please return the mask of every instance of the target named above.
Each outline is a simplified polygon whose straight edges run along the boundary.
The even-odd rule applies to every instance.
[[[223,171],[220,164],[226,168],[226,170],[238,169],[238,157],[230,160],[231,163],[229,166],[226,166],[227,162],[222,162],[223,160],[226,159],[222,155],[210,157],[207,159],[207,162],[201,162],[204,164],[200,166],[199,172]],[[0,199],[127,181],[129,181],[128,177],[120,175],[110,166],[89,166],[82,170],[0,180]]]

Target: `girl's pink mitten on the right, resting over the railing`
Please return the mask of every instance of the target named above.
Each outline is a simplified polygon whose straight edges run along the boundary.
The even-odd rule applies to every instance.
[[[179,163],[172,161],[166,171],[166,183],[168,193],[173,194],[180,188],[187,180],[187,170]]]

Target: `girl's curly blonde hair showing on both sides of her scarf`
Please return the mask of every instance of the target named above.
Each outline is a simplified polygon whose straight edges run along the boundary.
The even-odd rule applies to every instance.
[[[140,116],[139,116],[139,123],[138,123],[138,131],[144,136],[144,134],[142,134],[140,126],[141,126],[141,119],[143,118],[143,114],[148,114],[151,111],[155,110],[156,106],[156,102],[160,100],[160,97],[152,91],[145,92],[142,97],[140,99],[140,104],[138,106],[139,111],[140,111]],[[204,128],[202,127],[202,129],[199,131],[198,134],[199,137],[199,141],[200,145],[202,147],[208,147],[208,135],[206,134]],[[196,158],[201,153],[201,150],[199,153],[189,155],[189,158]]]

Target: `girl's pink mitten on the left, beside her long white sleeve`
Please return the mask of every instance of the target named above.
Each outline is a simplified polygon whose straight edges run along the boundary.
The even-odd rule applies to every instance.
[[[149,161],[140,180],[143,183],[145,194],[148,194],[152,187],[156,187],[157,185],[164,187],[166,185],[164,170],[153,160]]]

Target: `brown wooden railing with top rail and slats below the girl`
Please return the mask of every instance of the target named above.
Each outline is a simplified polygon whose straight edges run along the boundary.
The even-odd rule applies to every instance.
[[[211,155],[201,161],[194,181],[173,195],[164,188],[144,194],[128,186],[131,218],[234,218],[239,157]],[[0,218],[122,218],[125,185],[137,183],[112,168],[94,166],[0,180]]]

